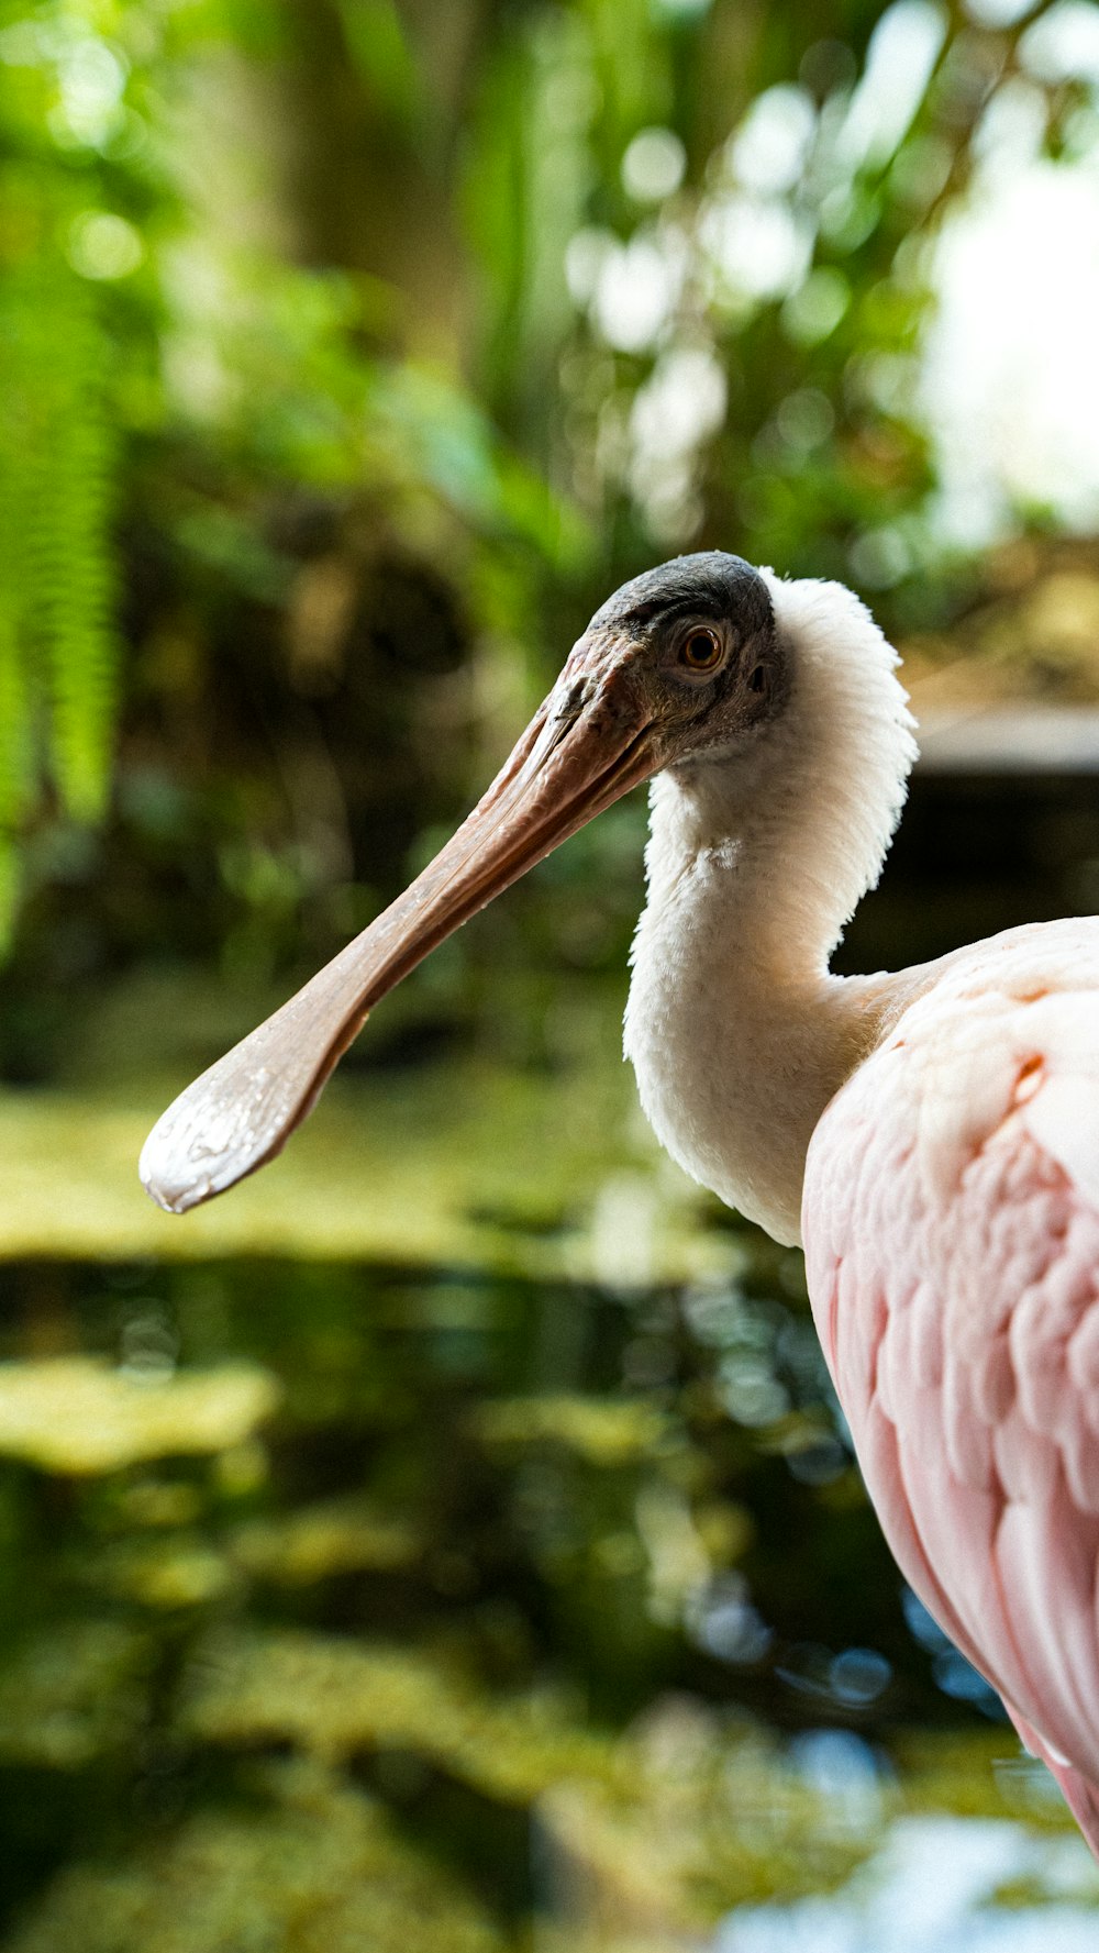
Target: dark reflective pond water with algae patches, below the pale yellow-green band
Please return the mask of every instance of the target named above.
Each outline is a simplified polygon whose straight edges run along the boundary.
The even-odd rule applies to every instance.
[[[798,1258],[712,1246],[10,1264],[4,1953],[1097,1943],[884,1553]]]

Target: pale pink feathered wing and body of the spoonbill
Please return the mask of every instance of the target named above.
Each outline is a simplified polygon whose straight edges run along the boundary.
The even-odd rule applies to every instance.
[[[1029,934],[835,1096],[802,1228],[886,1539],[1099,1857],[1099,984],[1044,988]]]

